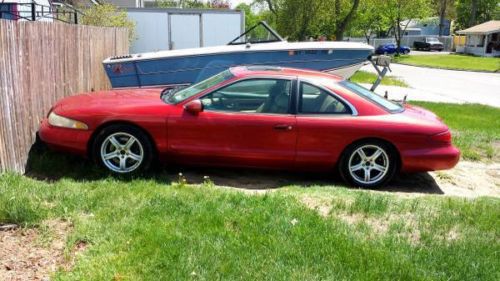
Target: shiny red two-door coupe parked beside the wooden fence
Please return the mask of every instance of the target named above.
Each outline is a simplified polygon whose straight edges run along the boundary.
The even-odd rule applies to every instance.
[[[398,171],[449,169],[460,152],[433,113],[330,74],[235,67],[183,89],[124,89],[60,100],[49,147],[116,173],[168,163],[332,171],[374,187]]]

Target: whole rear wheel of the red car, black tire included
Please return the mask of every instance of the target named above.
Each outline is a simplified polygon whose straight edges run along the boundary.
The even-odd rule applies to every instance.
[[[352,186],[375,188],[391,181],[398,166],[397,153],[391,145],[370,140],[354,143],[345,149],[339,172]]]

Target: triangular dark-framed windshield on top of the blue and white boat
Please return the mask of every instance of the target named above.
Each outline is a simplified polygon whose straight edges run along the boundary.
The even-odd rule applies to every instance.
[[[245,33],[236,37],[228,45],[255,44],[255,43],[270,43],[285,41],[281,36],[272,29],[265,21],[249,28]]]

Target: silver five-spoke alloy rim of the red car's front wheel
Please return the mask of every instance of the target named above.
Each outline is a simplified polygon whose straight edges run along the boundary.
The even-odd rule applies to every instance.
[[[101,145],[104,165],[117,173],[129,173],[137,169],[144,160],[144,149],[131,134],[118,132],[106,137]]]

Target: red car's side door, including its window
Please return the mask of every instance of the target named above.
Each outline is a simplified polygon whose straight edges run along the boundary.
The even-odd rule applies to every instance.
[[[246,79],[200,98],[203,111],[169,118],[169,150],[204,164],[293,165],[296,119],[292,80]]]

